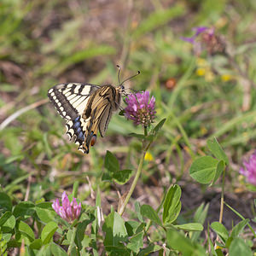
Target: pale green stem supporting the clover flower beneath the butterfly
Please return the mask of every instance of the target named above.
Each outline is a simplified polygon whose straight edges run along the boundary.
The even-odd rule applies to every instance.
[[[147,127],[144,127],[144,135],[147,136],[148,135],[148,131],[147,131]],[[144,146],[144,143],[145,143],[145,140],[143,140],[143,146]],[[141,172],[143,170],[143,162],[144,162],[144,158],[145,158],[145,154],[147,153],[148,151],[148,148],[149,146],[151,145],[152,142],[148,143],[147,146],[144,146],[143,147],[143,152],[141,154],[141,159],[140,159],[140,162],[139,162],[139,165],[137,167],[137,172],[136,172],[136,175],[133,179],[133,182],[131,183],[131,188],[129,189],[128,191],[128,194],[126,195],[125,197],[125,201],[122,203],[121,207],[119,207],[119,214],[122,216],[123,213],[125,212],[125,207],[127,206],[128,204],[128,201],[130,200],[131,198],[131,195],[137,185],[137,181],[138,181],[138,178],[140,177],[141,175]]]

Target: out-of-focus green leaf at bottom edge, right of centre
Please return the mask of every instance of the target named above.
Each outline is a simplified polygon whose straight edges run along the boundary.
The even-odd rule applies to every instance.
[[[169,247],[172,247],[172,249],[182,253],[183,256],[206,255],[205,250],[200,244],[194,244],[191,240],[189,240],[189,238],[183,236],[177,230],[167,230],[166,242]]]

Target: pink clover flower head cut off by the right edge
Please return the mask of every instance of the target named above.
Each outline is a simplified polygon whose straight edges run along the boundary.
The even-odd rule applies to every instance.
[[[247,182],[256,186],[256,150],[250,156],[248,161],[244,161],[245,168],[240,169],[241,175],[247,177]]]

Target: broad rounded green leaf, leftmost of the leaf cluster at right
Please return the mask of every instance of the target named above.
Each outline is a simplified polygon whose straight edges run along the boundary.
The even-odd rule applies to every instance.
[[[218,160],[212,158],[212,156],[201,156],[192,163],[189,174],[197,182],[207,184],[215,176],[217,165]]]

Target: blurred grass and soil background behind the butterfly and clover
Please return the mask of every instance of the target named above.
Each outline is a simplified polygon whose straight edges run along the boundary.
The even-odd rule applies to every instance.
[[[47,90],[64,82],[118,84],[119,64],[124,79],[141,71],[125,87],[150,90],[157,121],[167,119],[134,197],[158,205],[164,189],[178,181],[184,218],[204,201],[210,202],[209,215],[216,220],[218,184],[206,190],[188,170],[193,157],[189,145],[195,155],[204,155],[207,138],[217,137],[232,166],[227,201],[245,218],[252,217],[253,201],[248,199],[253,193],[238,171],[256,148],[255,11],[254,0],[2,0],[1,189],[20,201],[30,183],[29,200],[51,200],[76,179],[81,200],[94,205],[90,186],[96,190],[99,185],[104,213],[110,205],[116,207],[114,187],[101,181],[104,156],[110,150],[122,166],[136,169],[141,146],[127,134],[141,128],[115,114],[107,136],[97,140],[90,154],[81,154],[67,140],[64,120],[49,104]],[[223,55],[195,56],[193,46],[181,40],[193,34],[193,26],[214,26],[240,72]],[[119,189],[124,193],[127,187]],[[225,214],[233,213],[224,212],[224,224],[231,224]]]

